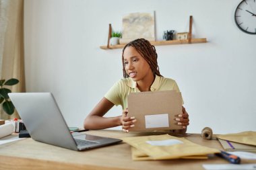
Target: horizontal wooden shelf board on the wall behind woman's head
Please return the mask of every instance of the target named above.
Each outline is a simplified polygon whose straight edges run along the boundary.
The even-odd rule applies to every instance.
[[[205,43],[207,42],[206,38],[194,38],[191,39],[191,42],[189,40],[168,40],[168,41],[155,41],[150,42],[154,46],[165,46],[165,45],[175,45],[175,44],[195,44],[195,43]],[[110,49],[117,49],[117,48],[123,48],[125,44],[118,44],[115,46],[100,46],[103,50],[110,50]]]

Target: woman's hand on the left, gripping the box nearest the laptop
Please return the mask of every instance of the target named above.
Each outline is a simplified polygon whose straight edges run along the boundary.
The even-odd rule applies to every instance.
[[[128,114],[128,108],[126,108],[125,110],[123,110],[123,114],[121,117],[121,124],[122,124],[122,129],[123,132],[129,132],[129,128],[134,127],[134,123],[137,121],[135,120],[135,117],[129,117],[127,116]]]

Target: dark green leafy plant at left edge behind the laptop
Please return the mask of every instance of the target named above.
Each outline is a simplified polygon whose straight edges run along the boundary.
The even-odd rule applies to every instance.
[[[14,105],[8,96],[8,93],[11,93],[11,90],[7,89],[3,86],[16,85],[18,83],[19,83],[18,79],[9,79],[7,81],[5,81],[5,79],[0,80],[0,86],[1,86],[1,88],[0,88],[0,104],[3,103],[3,111],[5,111],[5,113],[7,113],[9,115],[13,114],[13,112],[14,112]]]

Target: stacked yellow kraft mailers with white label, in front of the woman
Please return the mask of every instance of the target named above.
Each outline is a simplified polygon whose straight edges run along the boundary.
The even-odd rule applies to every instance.
[[[168,134],[134,136],[122,140],[135,148],[132,148],[133,160],[205,159],[208,154],[220,153],[216,148]]]

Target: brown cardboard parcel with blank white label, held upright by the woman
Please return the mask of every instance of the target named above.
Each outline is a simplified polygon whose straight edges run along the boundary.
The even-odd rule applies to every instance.
[[[128,116],[137,122],[129,131],[182,129],[174,120],[182,113],[182,102],[181,93],[174,90],[130,93]]]

